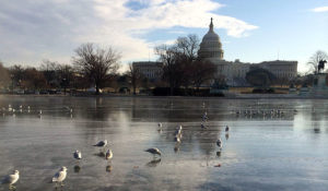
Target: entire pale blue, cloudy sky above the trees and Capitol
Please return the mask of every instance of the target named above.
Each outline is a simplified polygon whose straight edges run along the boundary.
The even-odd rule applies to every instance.
[[[153,47],[207,33],[210,17],[226,60],[306,61],[328,51],[328,0],[11,0],[0,2],[0,60],[70,63],[82,43],[113,46],[122,62],[156,59]]]

